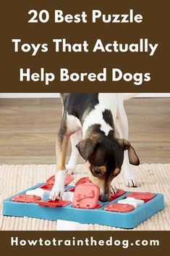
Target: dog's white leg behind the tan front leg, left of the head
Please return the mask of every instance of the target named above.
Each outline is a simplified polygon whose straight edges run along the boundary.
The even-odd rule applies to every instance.
[[[77,157],[79,155],[76,145],[82,140],[82,132],[81,131],[75,132],[74,134],[72,134],[70,139],[72,144],[72,154],[67,164],[67,173],[72,174],[76,168]]]

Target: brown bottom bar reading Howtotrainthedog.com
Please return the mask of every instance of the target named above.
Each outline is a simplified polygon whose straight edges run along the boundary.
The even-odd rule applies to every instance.
[[[164,255],[169,231],[1,231],[5,255]]]

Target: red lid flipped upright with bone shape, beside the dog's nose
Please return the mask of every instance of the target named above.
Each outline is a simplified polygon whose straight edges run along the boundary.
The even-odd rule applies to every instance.
[[[82,183],[75,188],[72,205],[75,208],[94,209],[98,205],[100,189],[92,183]]]

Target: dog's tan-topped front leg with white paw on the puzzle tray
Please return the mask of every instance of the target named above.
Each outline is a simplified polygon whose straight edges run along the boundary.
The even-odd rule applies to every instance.
[[[56,139],[56,168],[57,173],[55,176],[54,186],[51,190],[50,199],[61,199],[64,192],[64,181],[66,176],[65,160],[67,155],[67,146],[69,142],[69,134],[64,133],[59,135]]]

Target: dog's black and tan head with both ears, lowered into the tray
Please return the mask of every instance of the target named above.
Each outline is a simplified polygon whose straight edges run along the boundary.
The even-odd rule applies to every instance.
[[[129,162],[139,165],[135,149],[125,139],[109,139],[96,134],[77,144],[77,149],[85,159],[89,178],[100,188],[100,200],[106,202],[111,194],[111,181],[121,171],[124,150],[128,150]]]

